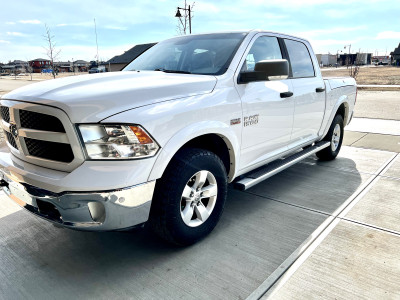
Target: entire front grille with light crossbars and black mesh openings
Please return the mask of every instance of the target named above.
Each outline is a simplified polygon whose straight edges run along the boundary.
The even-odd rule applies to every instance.
[[[84,162],[75,127],[62,110],[13,100],[0,104],[4,137],[17,158],[66,172]]]

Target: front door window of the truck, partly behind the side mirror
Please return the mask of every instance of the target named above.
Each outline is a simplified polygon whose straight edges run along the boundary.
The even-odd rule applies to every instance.
[[[242,71],[254,71],[257,62],[269,59],[281,59],[282,53],[278,39],[272,36],[261,36],[251,46]]]

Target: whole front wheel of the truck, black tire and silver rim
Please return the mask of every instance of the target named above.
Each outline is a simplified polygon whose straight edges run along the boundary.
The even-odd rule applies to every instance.
[[[186,246],[217,225],[226,199],[227,175],[213,152],[185,148],[157,181],[149,223],[164,240]]]

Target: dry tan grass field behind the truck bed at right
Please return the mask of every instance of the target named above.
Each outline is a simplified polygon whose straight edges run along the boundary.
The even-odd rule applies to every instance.
[[[349,76],[350,69],[322,70],[322,76]],[[392,66],[362,67],[357,76],[357,84],[400,85],[400,68]]]

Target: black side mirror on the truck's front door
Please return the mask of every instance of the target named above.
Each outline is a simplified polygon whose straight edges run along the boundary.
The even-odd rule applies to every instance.
[[[241,72],[239,83],[283,80],[288,77],[289,62],[286,59],[262,60],[256,63],[254,71]]]

